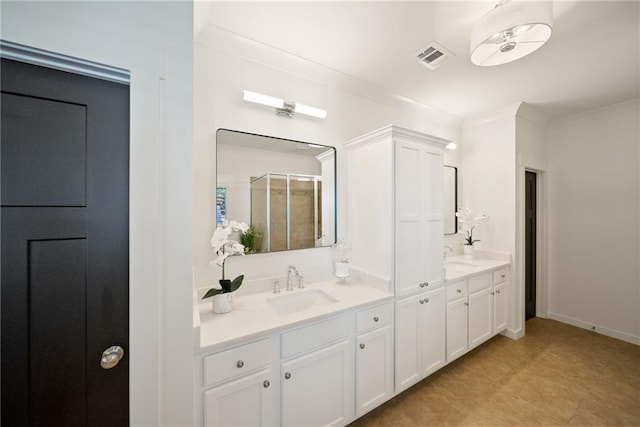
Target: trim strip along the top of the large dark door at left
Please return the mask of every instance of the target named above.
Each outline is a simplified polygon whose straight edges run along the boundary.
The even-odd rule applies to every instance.
[[[48,50],[38,49],[0,39],[0,56],[19,62],[26,62],[46,68],[53,68],[74,74],[81,74],[100,80],[129,84],[131,74],[123,68],[99,64],[85,59],[74,58]]]

